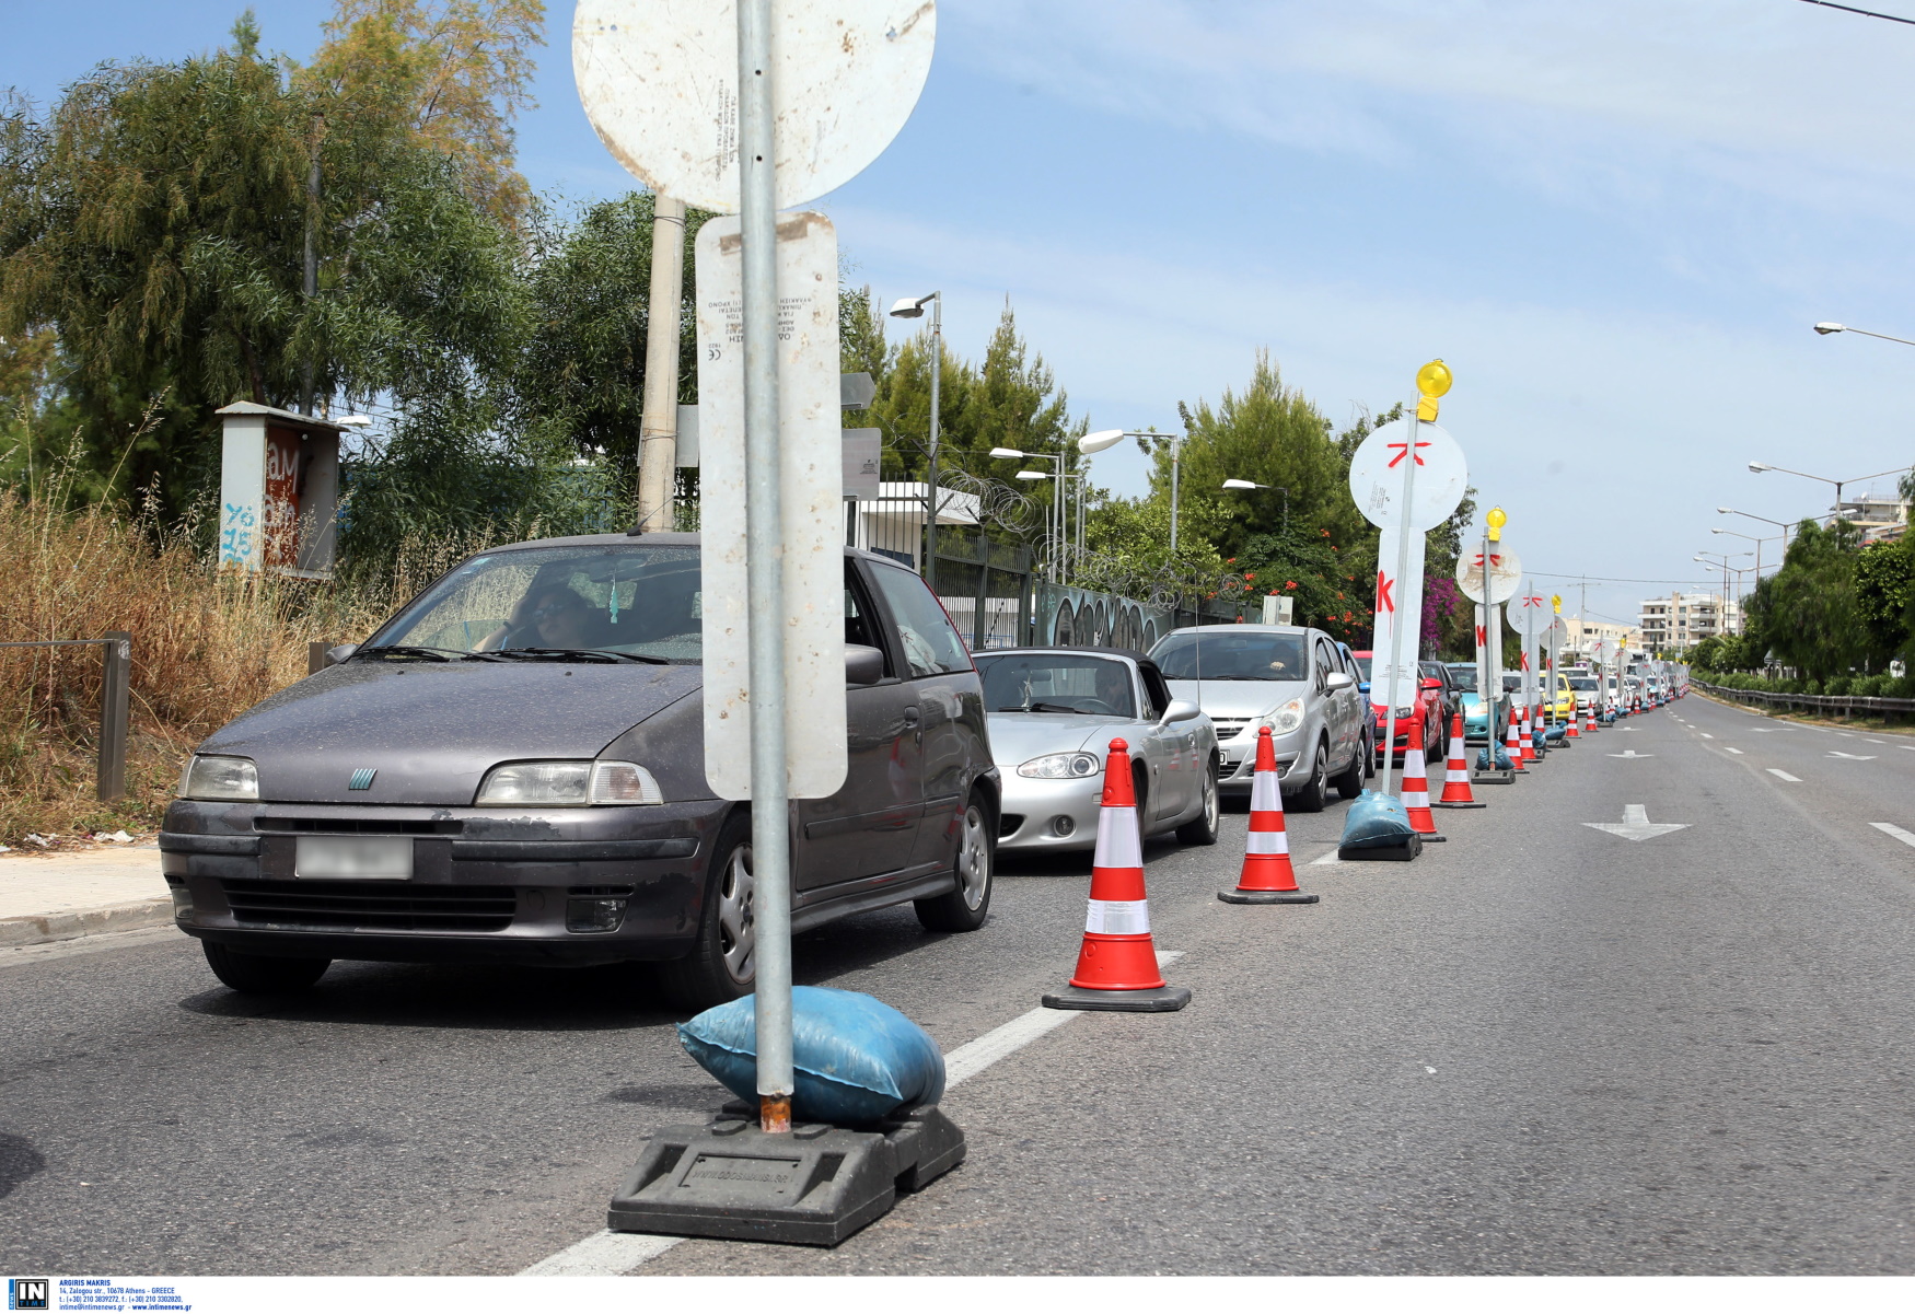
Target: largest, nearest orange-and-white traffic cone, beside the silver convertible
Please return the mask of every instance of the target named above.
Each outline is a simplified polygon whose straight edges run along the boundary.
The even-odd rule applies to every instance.
[[[1172,1013],[1191,992],[1164,985],[1151,944],[1151,906],[1143,896],[1143,833],[1130,783],[1130,745],[1111,739],[1103,762],[1097,854],[1090,866],[1090,914],[1070,985],[1044,996],[1044,1008],[1107,1013]]]

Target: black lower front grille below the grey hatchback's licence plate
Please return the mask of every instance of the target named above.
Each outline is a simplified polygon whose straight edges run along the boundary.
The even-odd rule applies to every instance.
[[[394,881],[220,881],[234,921],[287,931],[504,931],[509,885]]]

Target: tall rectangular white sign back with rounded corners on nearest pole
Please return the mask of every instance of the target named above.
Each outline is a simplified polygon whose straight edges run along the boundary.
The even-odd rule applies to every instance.
[[[751,797],[751,624],[745,590],[745,324],[739,220],[695,249],[705,780]],[[785,772],[793,799],[845,783],[845,442],[839,418],[837,230],[777,216],[777,419],[783,488]]]

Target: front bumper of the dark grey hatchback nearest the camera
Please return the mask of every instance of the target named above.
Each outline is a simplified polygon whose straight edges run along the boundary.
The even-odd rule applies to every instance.
[[[370,808],[174,803],[159,835],[174,921],[247,952],[375,962],[590,965],[682,958],[732,804]],[[303,835],[404,835],[406,879],[312,879]],[[613,929],[569,929],[617,902]]]

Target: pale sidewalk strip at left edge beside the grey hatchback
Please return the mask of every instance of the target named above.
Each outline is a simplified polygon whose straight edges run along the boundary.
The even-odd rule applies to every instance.
[[[0,948],[169,921],[172,896],[151,841],[0,858]]]

